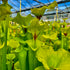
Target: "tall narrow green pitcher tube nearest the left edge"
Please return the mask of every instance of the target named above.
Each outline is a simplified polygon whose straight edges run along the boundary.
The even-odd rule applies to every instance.
[[[2,50],[2,59],[1,59],[1,70],[7,70],[6,69],[6,54],[7,54],[7,32],[8,32],[8,22],[4,22],[5,24],[5,37],[4,37],[4,41],[5,41],[5,46],[1,49]]]

